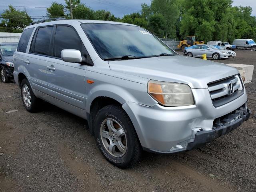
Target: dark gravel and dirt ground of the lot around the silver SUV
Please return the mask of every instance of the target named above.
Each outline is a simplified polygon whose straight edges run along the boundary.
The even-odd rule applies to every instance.
[[[237,53],[220,62],[256,65],[256,52]],[[121,170],[100,154],[85,120],[48,103],[29,113],[18,86],[0,83],[0,191],[256,191],[255,84],[254,69],[246,85],[252,116],[233,132],[190,152],[144,152]]]

